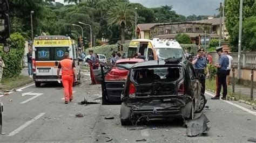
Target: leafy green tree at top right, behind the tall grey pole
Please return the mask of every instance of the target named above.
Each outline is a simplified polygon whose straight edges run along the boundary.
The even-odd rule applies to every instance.
[[[240,3],[237,0],[225,1],[225,26],[230,33],[230,45],[232,49],[238,48],[238,30],[239,30],[239,6]],[[242,19],[245,21],[247,18],[256,16],[256,1],[255,0],[244,0],[242,8]],[[247,44],[248,42],[242,41]],[[241,45],[248,47],[248,45]],[[250,47],[250,46],[249,46]]]

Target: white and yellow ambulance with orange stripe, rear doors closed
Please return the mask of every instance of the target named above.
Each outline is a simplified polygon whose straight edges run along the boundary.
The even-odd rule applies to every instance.
[[[79,82],[81,76],[75,41],[64,35],[35,37],[32,49],[32,70],[36,87],[40,87],[44,82],[57,83],[58,64],[60,60],[63,60],[65,52],[69,52],[70,59],[76,63],[77,81]]]

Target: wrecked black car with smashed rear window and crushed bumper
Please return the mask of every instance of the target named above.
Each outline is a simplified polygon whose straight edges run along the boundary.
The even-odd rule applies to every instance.
[[[193,119],[199,109],[200,91],[201,84],[187,60],[137,63],[130,69],[122,92],[121,124],[175,116]]]

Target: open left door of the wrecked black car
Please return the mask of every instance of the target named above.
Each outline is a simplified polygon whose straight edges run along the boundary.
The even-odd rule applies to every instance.
[[[121,67],[127,70],[124,66],[120,65],[107,65],[100,64],[100,69],[102,71],[102,104],[103,105],[120,105],[121,104],[121,93],[124,89],[125,81],[105,81],[105,76],[113,67]]]

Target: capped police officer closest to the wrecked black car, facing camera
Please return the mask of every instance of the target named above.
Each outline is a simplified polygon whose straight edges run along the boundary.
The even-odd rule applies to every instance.
[[[198,50],[198,54],[194,57],[192,64],[199,77],[199,81],[202,85],[201,94],[205,94],[205,69],[207,70],[207,77],[209,76],[209,70],[207,67],[207,59],[204,57],[204,48]]]

